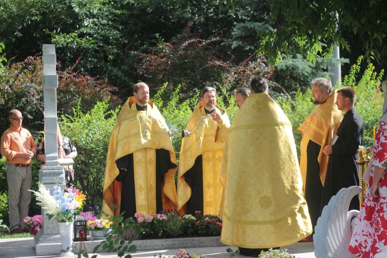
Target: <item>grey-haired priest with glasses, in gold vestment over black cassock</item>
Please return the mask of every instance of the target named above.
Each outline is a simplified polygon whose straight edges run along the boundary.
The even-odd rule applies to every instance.
[[[342,114],[335,105],[337,92],[332,90],[332,83],[329,80],[316,78],[310,85],[313,103],[317,107],[298,127],[298,131],[303,135],[300,144],[300,170],[314,230],[320,217],[320,204],[329,158],[323,150],[326,145],[330,145],[332,137],[336,134]],[[303,241],[312,241],[312,236]]]

